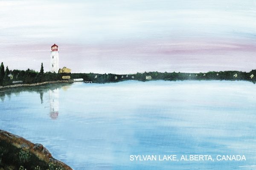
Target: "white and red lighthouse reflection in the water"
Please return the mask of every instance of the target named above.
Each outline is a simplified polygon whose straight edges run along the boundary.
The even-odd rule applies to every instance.
[[[50,117],[52,119],[58,118],[59,111],[59,89],[49,89],[49,101],[50,101]]]

